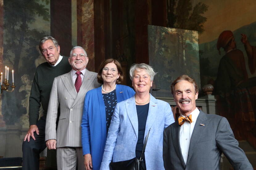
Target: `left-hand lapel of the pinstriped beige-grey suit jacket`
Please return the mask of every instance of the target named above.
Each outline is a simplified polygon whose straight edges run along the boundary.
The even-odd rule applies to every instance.
[[[73,83],[72,72],[70,71],[69,73],[66,73],[60,77],[68,93],[73,97],[73,99],[76,99],[77,93]]]

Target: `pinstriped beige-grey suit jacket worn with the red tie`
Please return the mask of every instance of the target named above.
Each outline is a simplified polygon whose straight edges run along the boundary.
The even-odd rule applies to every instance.
[[[81,147],[81,119],[87,91],[97,88],[97,73],[86,69],[79,92],[76,92],[71,71],[56,77],[47,110],[45,141],[56,139],[56,147]],[[60,118],[56,132],[56,119],[60,107]]]

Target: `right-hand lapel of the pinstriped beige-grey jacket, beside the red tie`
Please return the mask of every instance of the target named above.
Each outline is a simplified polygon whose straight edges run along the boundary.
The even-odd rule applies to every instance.
[[[85,93],[88,91],[88,89],[91,87],[90,85],[92,84],[92,82],[94,81],[94,78],[92,77],[93,74],[88,71],[87,69],[85,69],[85,75],[82,81],[82,85],[80,87],[79,92],[77,93],[76,99],[72,105],[72,107],[77,103],[77,101],[79,101],[81,99],[81,97],[85,97]],[[75,85],[74,85],[75,87]]]

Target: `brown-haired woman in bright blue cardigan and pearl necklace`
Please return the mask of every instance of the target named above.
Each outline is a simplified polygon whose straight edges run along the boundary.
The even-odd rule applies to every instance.
[[[119,85],[123,80],[120,63],[112,58],[103,61],[98,72],[98,82],[103,84],[86,93],[82,117],[82,147],[87,170],[99,170],[108,128],[117,102],[134,95],[134,90]]]

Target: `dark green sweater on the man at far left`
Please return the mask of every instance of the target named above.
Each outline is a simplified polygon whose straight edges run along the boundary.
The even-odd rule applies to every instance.
[[[55,77],[68,73],[71,66],[68,57],[63,57],[59,64],[51,66],[47,62],[40,64],[35,71],[35,77],[31,87],[29,97],[29,124],[35,125],[39,118],[39,108],[42,103],[43,116],[46,119],[48,102]]]

